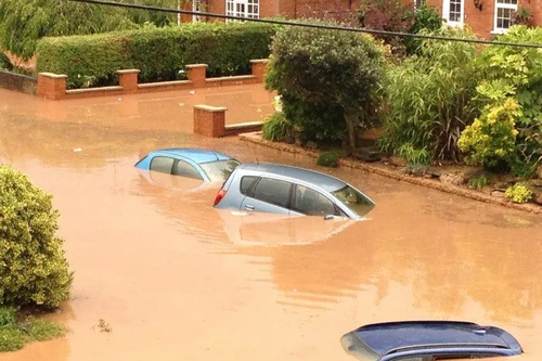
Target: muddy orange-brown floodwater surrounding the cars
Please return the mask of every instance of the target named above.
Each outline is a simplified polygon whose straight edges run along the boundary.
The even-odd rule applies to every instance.
[[[0,162],[53,194],[75,271],[51,315],[67,336],[0,360],[353,360],[343,334],[415,319],[494,324],[540,360],[540,216],[319,169],[374,198],[370,220],[241,217],[211,207],[217,184],[133,167],[151,149],[201,146],[315,168],[191,133],[195,102],[228,106],[236,123],[269,114],[272,98],[260,86],[61,102],[0,90]]]

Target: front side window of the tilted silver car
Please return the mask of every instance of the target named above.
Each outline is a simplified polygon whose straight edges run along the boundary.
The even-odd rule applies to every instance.
[[[307,216],[340,215],[325,195],[299,184],[296,185],[292,209]]]

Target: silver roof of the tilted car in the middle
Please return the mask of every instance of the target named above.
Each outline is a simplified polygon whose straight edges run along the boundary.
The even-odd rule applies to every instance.
[[[339,180],[335,177],[332,177],[332,176],[327,176],[327,175],[324,175],[324,173],[321,173],[318,171],[313,171],[313,170],[309,170],[309,169],[305,169],[305,168],[285,166],[285,165],[280,165],[280,164],[245,163],[245,164],[242,164],[237,168],[258,171],[258,172],[262,172],[262,173],[278,175],[278,176],[282,176],[282,177],[293,178],[296,180],[300,180],[302,182],[318,185],[326,192],[335,192],[335,191],[347,185],[347,183],[345,183],[341,180]]]

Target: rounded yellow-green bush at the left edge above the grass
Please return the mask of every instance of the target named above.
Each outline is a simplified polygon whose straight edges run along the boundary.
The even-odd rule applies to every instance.
[[[70,274],[51,195],[0,166],[0,305],[57,307]]]

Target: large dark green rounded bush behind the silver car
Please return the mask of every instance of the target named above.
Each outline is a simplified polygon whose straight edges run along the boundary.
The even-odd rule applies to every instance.
[[[326,115],[343,112],[334,125],[346,125],[349,144],[356,146],[358,128],[373,123],[373,90],[380,78],[382,49],[359,33],[289,26],[278,31],[271,51],[267,88],[282,95],[286,118],[293,119],[288,115],[293,107],[304,112],[310,106],[333,109]],[[304,121],[323,123],[321,115],[314,116]]]

